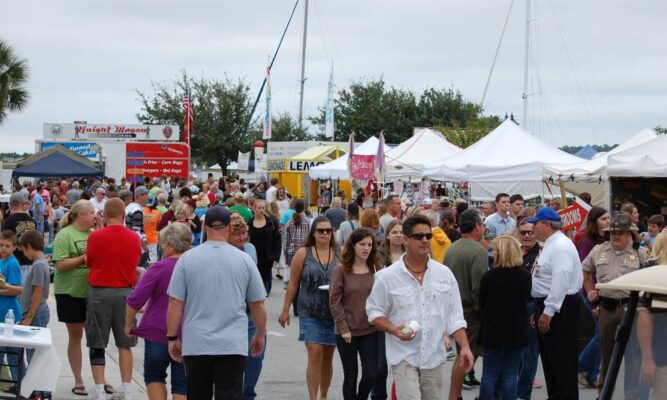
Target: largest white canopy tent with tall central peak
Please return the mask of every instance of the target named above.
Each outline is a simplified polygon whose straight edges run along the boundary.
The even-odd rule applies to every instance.
[[[508,119],[462,152],[427,164],[423,176],[468,181],[472,200],[491,200],[500,192],[553,197],[560,192],[543,181],[543,166],[581,161]]]

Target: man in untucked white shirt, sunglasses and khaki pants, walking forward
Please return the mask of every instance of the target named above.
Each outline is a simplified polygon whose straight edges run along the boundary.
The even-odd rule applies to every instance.
[[[440,400],[445,335],[453,335],[461,346],[460,363],[466,371],[473,363],[461,296],[451,271],[429,257],[433,234],[428,218],[407,218],[403,235],[406,253],[377,273],[366,314],[387,333],[387,363],[398,398]]]

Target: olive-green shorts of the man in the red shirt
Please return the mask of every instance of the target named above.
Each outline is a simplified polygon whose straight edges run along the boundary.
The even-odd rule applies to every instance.
[[[98,288],[88,290],[86,314],[86,346],[105,349],[113,331],[116,346],[130,348],[137,345],[137,337],[125,335],[125,305],[132,288]]]

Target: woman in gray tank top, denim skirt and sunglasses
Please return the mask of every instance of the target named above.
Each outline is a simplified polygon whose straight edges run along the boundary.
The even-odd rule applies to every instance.
[[[331,222],[319,216],[311,224],[306,244],[292,259],[289,286],[278,319],[283,328],[289,324],[289,306],[298,287],[299,341],[305,342],[308,351],[306,383],[311,400],[317,400],[318,391],[320,398],[327,398],[333,374],[334,322],[328,289],[320,287],[328,287],[338,260]]]

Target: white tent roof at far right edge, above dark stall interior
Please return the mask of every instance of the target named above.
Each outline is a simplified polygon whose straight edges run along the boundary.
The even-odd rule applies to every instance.
[[[667,177],[667,135],[659,135],[631,149],[612,154],[607,160],[607,175],[614,177]]]

